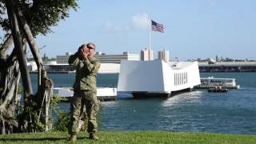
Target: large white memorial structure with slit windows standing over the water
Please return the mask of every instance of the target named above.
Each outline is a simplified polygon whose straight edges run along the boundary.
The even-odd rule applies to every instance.
[[[198,62],[122,61],[118,91],[144,95],[170,96],[200,84]]]

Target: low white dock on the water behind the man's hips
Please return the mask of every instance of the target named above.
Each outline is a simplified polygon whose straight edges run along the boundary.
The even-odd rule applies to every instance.
[[[59,94],[61,97],[66,98],[66,101],[70,102],[74,95],[74,89],[72,87],[55,87],[54,94]],[[117,100],[117,88],[113,87],[98,87],[97,98],[101,102],[116,101]]]

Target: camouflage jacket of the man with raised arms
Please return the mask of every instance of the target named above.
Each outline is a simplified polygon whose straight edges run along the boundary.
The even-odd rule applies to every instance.
[[[100,62],[96,58],[79,58],[78,52],[70,55],[69,64],[76,66],[74,90],[97,90],[96,76]]]

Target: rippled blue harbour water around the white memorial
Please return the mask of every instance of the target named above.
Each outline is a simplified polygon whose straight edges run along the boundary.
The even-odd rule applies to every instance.
[[[195,90],[171,98],[134,99],[119,93],[118,101],[102,102],[100,130],[203,131],[256,134],[256,73],[203,73],[201,77],[236,78],[240,90],[226,94]],[[54,86],[72,86],[74,74],[49,74]],[[32,82],[36,85],[36,76]],[[99,74],[98,86],[117,86],[118,74]],[[69,110],[69,103],[60,105]]]

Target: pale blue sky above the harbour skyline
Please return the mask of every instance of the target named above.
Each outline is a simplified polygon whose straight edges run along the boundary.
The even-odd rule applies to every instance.
[[[149,46],[149,20],[166,31],[151,31],[151,48],[166,48],[170,59],[256,59],[256,1],[254,0],[79,0],[78,11],[38,36],[40,51],[50,58],[75,52],[95,42],[106,54],[140,54]]]

